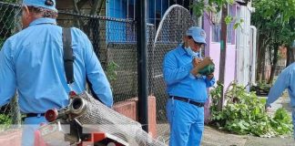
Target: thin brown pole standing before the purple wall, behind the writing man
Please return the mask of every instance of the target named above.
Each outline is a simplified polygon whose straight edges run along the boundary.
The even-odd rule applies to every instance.
[[[219,82],[224,85],[224,73],[226,66],[227,54],[227,24],[225,18],[228,16],[228,5],[223,5],[221,9],[221,38],[220,38],[220,62],[219,62]],[[218,108],[222,110],[224,102],[224,87],[221,87],[221,97],[219,99]]]

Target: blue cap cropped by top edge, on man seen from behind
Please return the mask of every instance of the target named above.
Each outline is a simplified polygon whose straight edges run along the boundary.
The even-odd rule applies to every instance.
[[[23,5],[43,7],[57,12],[56,0],[23,0]]]

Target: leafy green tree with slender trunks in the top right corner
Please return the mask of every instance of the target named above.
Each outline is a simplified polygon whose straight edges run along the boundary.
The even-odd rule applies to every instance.
[[[253,1],[256,12],[251,16],[251,23],[258,28],[259,57],[258,67],[264,67],[265,53],[270,49],[272,82],[278,61],[278,49],[284,45],[290,47],[294,40],[294,0],[259,0]],[[258,68],[258,79],[264,80],[264,68]]]

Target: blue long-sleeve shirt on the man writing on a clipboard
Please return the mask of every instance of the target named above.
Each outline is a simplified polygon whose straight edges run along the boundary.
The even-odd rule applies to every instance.
[[[163,73],[167,92],[169,96],[206,102],[208,98],[207,88],[214,85],[215,78],[192,76],[190,74],[190,70],[193,68],[192,58],[181,46],[169,51],[165,56]]]

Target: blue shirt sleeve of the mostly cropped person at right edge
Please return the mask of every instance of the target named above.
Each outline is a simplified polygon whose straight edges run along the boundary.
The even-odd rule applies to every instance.
[[[288,89],[289,92],[290,106],[295,108],[295,62],[281,71],[270,89],[266,105],[270,106],[271,103],[279,99],[285,89]]]

